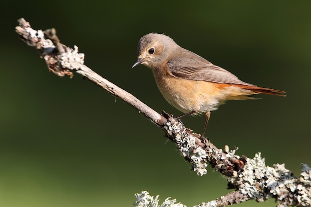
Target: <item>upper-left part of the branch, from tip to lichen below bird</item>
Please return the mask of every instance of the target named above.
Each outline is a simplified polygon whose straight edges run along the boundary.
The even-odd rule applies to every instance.
[[[156,123],[156,125],[161,126],[166,123],[164,117],[132,94],[119,88],[83,65],[84,54],[78,53],[77,46],[75,46],[75,49],[73,50],[61,44],[56,35],[55,29],[48,29],[44,32],[42,30],[36,31],[32,29],[30,24],[23,18],[19,20],[19,24],[20,26],[16,27],[16,32],[29,46],[36,47],[36,49],[40,51],[41,58],[46,61],[50,71],[59,76],[69,75],[70,77],[73,77],[73,72],[71,72],[71,70],[75,70],[96,85],[142,112],[151,121]],[[48,38],[46,38],[46,36]]]

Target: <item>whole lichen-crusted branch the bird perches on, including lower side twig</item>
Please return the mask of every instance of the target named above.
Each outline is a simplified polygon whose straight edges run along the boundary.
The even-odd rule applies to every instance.
[[[18,22],[16,32],[29,46],[36,47],[50,71],[59,76],[69,75],[70,77],[73,77],[72,71],[76,71],[148,117],[164,131],[167,138],[176,144],[184,158],[191,163],[192,170],[198,175],[207,173],[206,167],[209,163],[216,171],[228,178],[228,189],[235,189],[235,191],[198,207],[225,207],[247,200],[261,202],[269,198],[275,198],[276,202],[279,202],[278,207],[311,205],[311,169],[308,165],[301,165],[301,177],[297,178],[284,167],[284,164],[276,164],[273,168],[266,166],[260,153],[250,159],[235,155],[237,147],[231,151],[228,146],[224,151],[218,149],[209,139],[200,138],[198,134],[185,128],[183,123],[175,120],[172,115],[163,112],[161,116],[132,94],[83,65],[84,54],[78,53],[77,46],[71,49],[61,44],[55,29],[34,30],[23,18]],[[150,197],[148,192],[142,192],[136,196],[137,207],[143,207],[145,204],[146,207],[157,206],[158,196],[156,200]],[[177,207],[178,205],[184,207],[182,204],[175,204],[175,200],[166,199],[165,202],[161,207]]]

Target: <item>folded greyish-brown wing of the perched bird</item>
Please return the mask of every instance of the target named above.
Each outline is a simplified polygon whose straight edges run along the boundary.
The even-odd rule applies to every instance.
[[[181,52],[180,57],[170,59],[167,62],[167,67],[178,78],[255,86],[239,80],[226,69],[215,66],[197,54],[185,49]]]

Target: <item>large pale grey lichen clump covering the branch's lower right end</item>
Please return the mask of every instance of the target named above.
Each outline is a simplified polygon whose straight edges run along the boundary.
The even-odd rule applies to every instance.
[[[265,165],[265,160],[258,153],[253,159],[247,158],[243,171],[236,177],[228,178],[239,192],[249,198],[262,202],[275,198],[278,207],[311,206],[311,170],[302,165],[302,177],[295,177],[284,164],[274,167]]]

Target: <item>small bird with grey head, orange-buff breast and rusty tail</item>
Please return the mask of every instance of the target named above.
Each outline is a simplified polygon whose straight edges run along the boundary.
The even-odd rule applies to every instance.
[[[176,119],[205,113],[201,137],[204,136],[211,111],[228,100],[256,99],[253,95],[258,93],[286,96],[284,91],[239,80],[228,70],[180,47],[164,34],[143,36],[137,53],[138,60],[132,68],[142,64],[152,69],[156,85],[166,101],[185,113]]]

